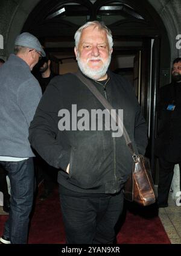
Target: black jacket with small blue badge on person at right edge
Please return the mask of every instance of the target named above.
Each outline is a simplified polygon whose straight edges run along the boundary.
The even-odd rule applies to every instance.
[[[168,110],[169,104],[175,106]],[[160,88],[158,129],[155,155],[171,162],[181,161],[181,84],[170,83]]]

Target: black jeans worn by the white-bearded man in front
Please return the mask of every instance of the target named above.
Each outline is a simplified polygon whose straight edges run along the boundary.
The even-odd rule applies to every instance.
[[[106,195],[74,191],[62,194],[60,190],[66,243],[112,244],[115,241],[115,225],[122,213],[123,200],[122,191]]]

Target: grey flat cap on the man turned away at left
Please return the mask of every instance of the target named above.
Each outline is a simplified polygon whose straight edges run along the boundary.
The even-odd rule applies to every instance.
[[[33,34],[30,34],[28,32],[19,34],[19,36],[16,37],[14,45],[25,46],[35,49],[37,51],[40,51],[43,57],[46,56],[45,51],[43,50],[39,40],[35,36],[33,36]]]

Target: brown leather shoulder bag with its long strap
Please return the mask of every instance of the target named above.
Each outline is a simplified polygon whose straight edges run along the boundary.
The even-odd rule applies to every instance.
[[[130,139],[129,134],[127,133],[127,130],[124,127],[124,124],[122,123],[121,119],[117,114],[116,116],[112,115],[111,109],[113,109],[113,107],[106,100],[106,98],[104,98],[103,95],[98,91],[94,84],[90,82],[89,79],[84,77],[80,71],[75,73],[75,75],[77,75],[81,82],[83,82],[84,85],[86,85],[87,88],[89,88],[89,90],[92,92],[92,94],[94,94],[95,97],[97,97],[97,99],[103,104],[105,109],[109,111],[109,114],[112,116],[117,126],[119,126],[119,129],[123,130],[125,142],[133,158],[132,174],[125,183],[124,188],[125,199],[135,201],[136,203],[139,203],[139,205],[143,206],[154,203],[156,200],[156,196],[154,193],[154,184],[153,179],[151,177],[150,164],[148,160],[144,158],[144,156],[142,155],[135,154],[135,150],[133,150],[132,141]]]

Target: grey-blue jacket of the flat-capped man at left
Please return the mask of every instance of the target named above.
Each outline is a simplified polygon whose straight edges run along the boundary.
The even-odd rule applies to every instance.
[[[34,156],[28,141],[28,127],[41,95],[30,67],[11,54],[0,68],[0,156]]]

